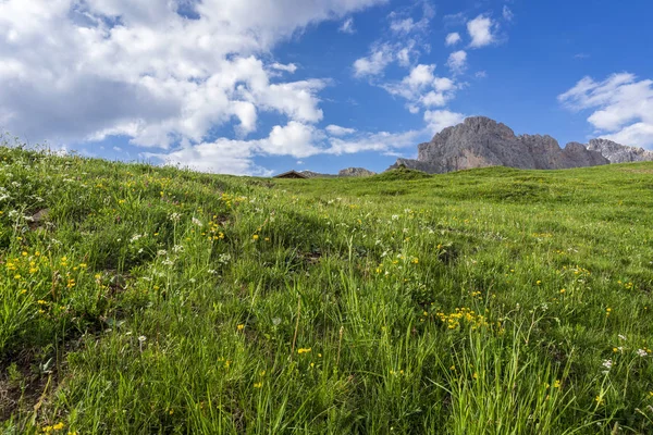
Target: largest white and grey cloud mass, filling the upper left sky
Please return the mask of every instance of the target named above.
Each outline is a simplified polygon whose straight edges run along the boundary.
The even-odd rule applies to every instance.
[[[326,82],[279,82],[274,71],[296,65],[261,58],[307,25],[383,1],[0,1],[0,122],[34,140],[126,135],[160,148],[204,144],[234,121],[247,135],[259,112],[315,123]]]

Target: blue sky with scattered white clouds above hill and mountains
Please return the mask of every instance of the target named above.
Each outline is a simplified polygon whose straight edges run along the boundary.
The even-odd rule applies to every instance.
[[[0,128],[234,175],[381,172],[467,116],[653,149],[653,2],[0,0]]]

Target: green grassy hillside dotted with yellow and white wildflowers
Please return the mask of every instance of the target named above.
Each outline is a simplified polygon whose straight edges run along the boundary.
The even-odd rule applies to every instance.
[[[256,179],[0,148],[5,433],[653,433],[653,164]]]

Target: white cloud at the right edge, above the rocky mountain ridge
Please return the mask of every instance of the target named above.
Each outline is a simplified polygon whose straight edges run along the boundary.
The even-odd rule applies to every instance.
[[[591,77],[558,96],[567,108],[591,110],[588,122],[602,137],[617,142],[653,148],[653,80],[633,74],[613,74],[603,82]]]

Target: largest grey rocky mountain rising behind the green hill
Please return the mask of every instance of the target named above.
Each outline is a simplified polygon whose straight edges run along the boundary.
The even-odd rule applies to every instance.
[[[600,152],[578,142],[560,148],[551,136],[516,136],[508,126],[484,116],[436,134],[418,146],[417,160],[397,159],[391,166],[405,165],[431,174],[485,166],[556,170],[608,164]]]

